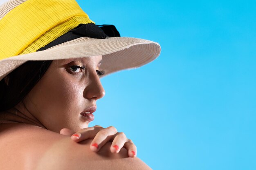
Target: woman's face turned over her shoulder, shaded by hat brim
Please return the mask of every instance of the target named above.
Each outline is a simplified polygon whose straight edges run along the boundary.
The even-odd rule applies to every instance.
[[[99,76],[101,60],[101,55],[54,60],[25,97],[27,110],[48,130],[87,128],[91,120],[80,113],[105,95]]]

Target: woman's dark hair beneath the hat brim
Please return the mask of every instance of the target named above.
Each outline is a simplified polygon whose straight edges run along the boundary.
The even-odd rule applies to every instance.
[[[49,68],[52,60],[27,61],[0,81],[0,111],[16,106]],[[2,68],[4,69],[4,68]]]

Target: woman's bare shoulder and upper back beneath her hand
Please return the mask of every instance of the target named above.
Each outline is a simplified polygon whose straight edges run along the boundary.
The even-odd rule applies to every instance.
[[[110,152],[111,142],[92,152],[91,141],[76,143],[38,126],[0,124],[0,165],[20,170],[151,170],[141,159],[128,157],[124,148]]]

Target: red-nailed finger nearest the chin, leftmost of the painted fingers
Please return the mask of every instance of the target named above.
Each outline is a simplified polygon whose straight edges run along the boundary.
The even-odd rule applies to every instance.
[[[100,127],[83,128],[71,136],[76,142],[84,141],[86,139],[93,139],[95,135],[101,130]]]

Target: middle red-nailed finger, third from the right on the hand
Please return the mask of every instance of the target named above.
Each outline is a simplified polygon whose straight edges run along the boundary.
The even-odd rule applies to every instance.
[[[91,150],[97,152],[108,141],[112,141],[113,136],[117,133],[117,129],[114,126],[109,126],[97,133],[91,143]]]

